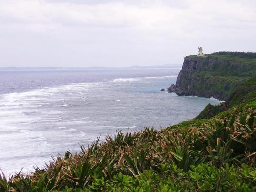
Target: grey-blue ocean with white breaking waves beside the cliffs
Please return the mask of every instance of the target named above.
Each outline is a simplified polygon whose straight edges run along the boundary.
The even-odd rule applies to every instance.
[[[0,169],[28,173],[116,131],[189,120],[209,98],[160,91],[180,69],[0,71]]]

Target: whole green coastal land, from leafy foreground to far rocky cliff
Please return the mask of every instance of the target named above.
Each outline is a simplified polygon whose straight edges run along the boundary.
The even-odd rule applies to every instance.
[[[117,132],[31,175],[0,174],[0,191],[256,191],[256,53],[187,56],[168,90],[225,102],[161,131]]]

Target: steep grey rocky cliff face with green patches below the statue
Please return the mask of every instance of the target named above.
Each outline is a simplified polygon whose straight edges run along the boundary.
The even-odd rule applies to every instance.
[[[236,88],[248,78],[255,66],[212,57],[184,58],[175,92],[178,95],[215,97],[227,100]]]

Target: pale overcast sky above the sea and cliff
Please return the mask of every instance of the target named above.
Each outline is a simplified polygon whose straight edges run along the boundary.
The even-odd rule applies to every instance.
[[[256,0],[0,0],[0,67],[182,64],[256,52]]]

